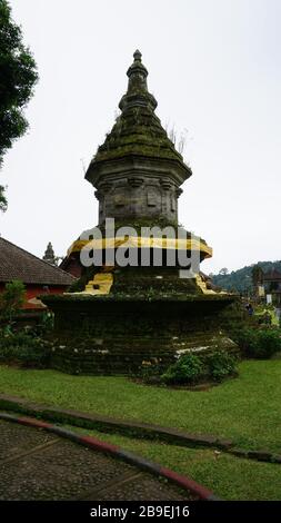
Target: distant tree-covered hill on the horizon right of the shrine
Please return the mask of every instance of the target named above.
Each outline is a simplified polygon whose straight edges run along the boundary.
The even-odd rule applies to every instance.
[[[232,270],[228,274],[210,275],[214,285],[225,290],[237,290],[238,293],[248,293],[252,290],[252,268],[259,265],[264,273],[277,269],[281,272],[281,260],[279,262],[258,262],[258,264],[248,265],[242,269]]]

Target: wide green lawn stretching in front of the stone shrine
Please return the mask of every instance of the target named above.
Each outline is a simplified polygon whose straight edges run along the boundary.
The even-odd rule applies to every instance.
[[[70,376],[0,366],[0,393],[49,405],[229,437],[281,453],[281,361],[248,361],[204,392],[140,385],[124,377]]]

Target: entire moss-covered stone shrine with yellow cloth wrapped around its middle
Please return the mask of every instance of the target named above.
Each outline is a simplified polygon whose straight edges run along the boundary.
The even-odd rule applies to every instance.
[[[178,228],[181,185],[192,171],[154,112],[141,53],[133,58],[121,114],[86,172],[97,189],[102,236],[82,235],[72,244],[62,267],[79,275],[78,282],[67,294],[42,297],[56,316],[53,366],[68,372],[129,374],[148,364],[164,367],[188,351],[234,346],[225,333],[239,315],[235,297],[218,293],[199,270],[181,277],[180,255],[202,262],[212,249]],[[110,237],[109,218],[114,218]],[[175,227],[175,236],[153,236],[153,226]],[[130,249],[136,264],[124,266],[118,256],[109,264],[109,248],[121,251],[122,259]],[[102,264],[86,267],[81,253],[90,258],[97,250]],[[143,253],[147,265],[141,264]],[[161,254],[161,264],[153,253]]]

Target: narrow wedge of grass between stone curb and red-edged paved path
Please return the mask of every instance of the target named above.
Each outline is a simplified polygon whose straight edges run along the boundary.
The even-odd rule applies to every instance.
[[[213,450],[182,448],[159,442],[100,434],[73,428],[99,440],[114,443],[161,463],[203,484],[223,500],[281,500],[281,470],[278,464],[241,460]]]

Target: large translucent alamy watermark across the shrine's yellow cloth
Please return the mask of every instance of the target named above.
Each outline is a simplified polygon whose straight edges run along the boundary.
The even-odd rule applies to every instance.
[[[194,278],[200,270],[200,238],[182,227],[130,226],[116,230],[114,218],[107,218],[103,230],[86,230],[80,240],[80,262],[84,267],[177,267],[181,278]]]

